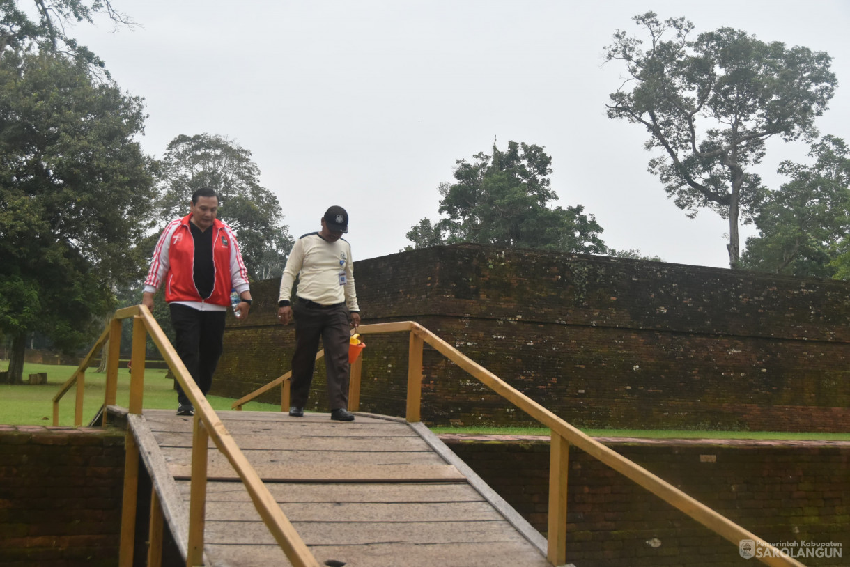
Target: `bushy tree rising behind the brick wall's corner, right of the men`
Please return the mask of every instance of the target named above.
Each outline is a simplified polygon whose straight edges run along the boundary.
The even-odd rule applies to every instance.
[[[455,242],[564,252],[604,253],[602,228],[584,207],[547,207],[558,196],[548,175],[552,158],[538,145],[508,142],[507,151],[493,145],[474,162],[458,160],[456,183],[440,184],[439,212],[432,224],[422,218],[407,233],[412,248]]]

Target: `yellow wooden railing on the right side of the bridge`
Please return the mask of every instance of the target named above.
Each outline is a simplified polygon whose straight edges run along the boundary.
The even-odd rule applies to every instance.
[[[735,524],[732,520],[688,496],[682,490],[678,490],[675,486],[666,482],[666,480],[660,479],[655,474],[650,473],[645,468],[612,451],[587,434],[583,434],[580,430],[570,425],[570,423],[565,422],[553,414],[552,411],[547,410],[525,394],[520,393],[519,390],[508,385],[500,377],[497,377],[484,368],[484,366],[467,358],[466,355],[418,323],[403,321],[397,323],[380,323],[377,325],[361,325],[358,327],[357,332],[360,332],[361,335],[383,332],[410,333],[406,403],[406,419],[408,422],[420,421],[420,407],[422,405],[422,349],[424,344],[427,343],[457,366],[460,366],[470,376],[477,378],[481,383],[484,383],[496,392],[496,394],[500,394],[502,398],[511,402],[520,410],[530,415],[530,417],[534,417],[538,422],[549,428],[552,435],[552,443],[549,461],[547,558],[552,564],[561,565],[566,562],[567,473],[570,464],[570,444],[572,444],[599,461],[604,462],[618,473],[632,479],[638,485],[643,486],[643,488],[659,496],[665,502],[677,507],[683,513],[686,513],[691,518],[700,522],[700,524],[705,525],[709,530],[723,536],[735,545],[738,545],[741,540],[760,541],[763,547],[766,547],[764,557],[758,558],[762,563],[804,567],[802,563],[794,558],[783,557],[778,549],[770,546],[766,541],[761,540],[758,536]],[[365,352],[368,352],[368,349]],[[320,358],[322,354],[320,352],[316,358]],[[360,364],[362,358],[363,356],[361,355],[351,368],[351,381],[348,390],[348,409],[351,411],[357,411],[360,407]],[[269,389],[275,388],[275,386],[281,386],[283,393],[281,394],[280,408],[281,411],[284,410],[289,405],[288,386],[291,375],[292,372],[287,372],[283,376],[276,378],[262,388],[258,388],[251,394],[246,395],[241,400],[235,401],[233,407],[240,410],[242,405],[253,400],[259,394],[263,394],[263,392],[267,392]]]

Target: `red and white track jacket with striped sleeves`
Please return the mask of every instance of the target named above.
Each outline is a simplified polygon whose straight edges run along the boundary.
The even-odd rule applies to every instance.
[[[233,230],[218,218],[212,221],[212,264],[215,268],[215,282],[212,295],[201,298],[195,287],[195,240],[189,227],[189,214],[176,218],[162,231],[154,249],[148,276],[144,278],[144,291],[156,292],[165,282],[165,300],[168,303],[198,303],[203,309],[205,304],[228,307],[230,290],[237,293],[249,289],[248,271],[242,262],[239,245]]]

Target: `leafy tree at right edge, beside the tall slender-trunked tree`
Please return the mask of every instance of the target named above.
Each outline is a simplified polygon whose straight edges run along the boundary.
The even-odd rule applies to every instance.
[[[813,165],[782,162],[791,181],[759,206],[757,236],[746,241],[742,264],[776,274],[831,277],[841,242],[850,233],[850,153],[844,140],[825,136],[812,145]]]

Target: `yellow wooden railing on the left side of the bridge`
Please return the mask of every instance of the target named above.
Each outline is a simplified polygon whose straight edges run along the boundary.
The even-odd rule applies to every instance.
[[[220,451],[239,474],[240,479],[244,483],[248,494],[254,503],[254,507],[263,522],[269,528],[275,541],[278,542],[281,549],[286,553],[286,558],[289,559],[292,565],[296,567],[318,567],[319,564],[309,552],[308,547],[304,544],[295,529],[286,519],[286,515],[280,509],[280,506],[275,502],[275,497],[269,493],[269,489],[263,485],[263,481],[259,478],[257,471],[247,461],[242,451],[236,445],[233,437],[230,436],[227,429],[224,428],[224,423],[218,418],[216,412],[212,410],[207,399],[201,394],[201,390],[195,384],[195,381],[190,377],[189,371],[180,360],[177,352],[174,350],[165,333],[162,332],[160,326],[156,323],[153,315],[143,305],[120,309],[116,312],[115,317],[111,320],[110,325],[102,334],[94,348],[88,353],[85,359],[77,368],[77,371],[71,378],[63,384],[54,397],[54,423],[59,420],[59,400],[62,396],[71,389],[72,386],[77,386],[77,405],[74,415],[75,424],[79,425],[82,422],[82,381],[84,372],[88,368],[88,364],[93,359],[94,355],[103,348],[103,345],[109,338],[109,359],[106,369],[106,388],[104,405],[114,405],[116,400],[116,385],[118,376],[118,354],[121,348],[121,323],[122,320],[133,318],[133,367],[130,370],[130,402],[129,412],[131,414],[140,414],[142,412],[143,394],[144,394],[144,351],[147,336],[153,339],[157,349],[159,349],[162,357],[166,360],[168,367],[174,374],[184,393],[195,406],[195,418],[193,424],[193,441],[192,441],[192,466],[191,466],[191,488],[190,488],[190,504],[189,504],[189,534],[184,550],[186,556],[186,565],[191,567],[194,565],[203,564],[203,548],[204,548],[204,515],[205,504],[207,500],[207,443],[208,439],[212,438],[218,451]],[[106,411],[104,408],[104,422],[106,420]],[[139,471],[139,447],[133,433],[127,429],[127,439],[125,444],[126,462],[124,469],[124,496],[122,505],[122,525],[121,525],[121,551],[119,555],[119,565],[121,567],[129,567],[133,564],[133,539],[135,533],[136,521],[136,501],[138,493],[138,471]],[[149,548],[149,564],[159,564],[158,558],[161,557],[161,532],[162,532],[162,510],[156,495],[156,490],[151,494],[151,519],[150,519],[150,548]],[[179,544],[178,544],[179,545]],[[159,548],[157,548],[159,547]]]

